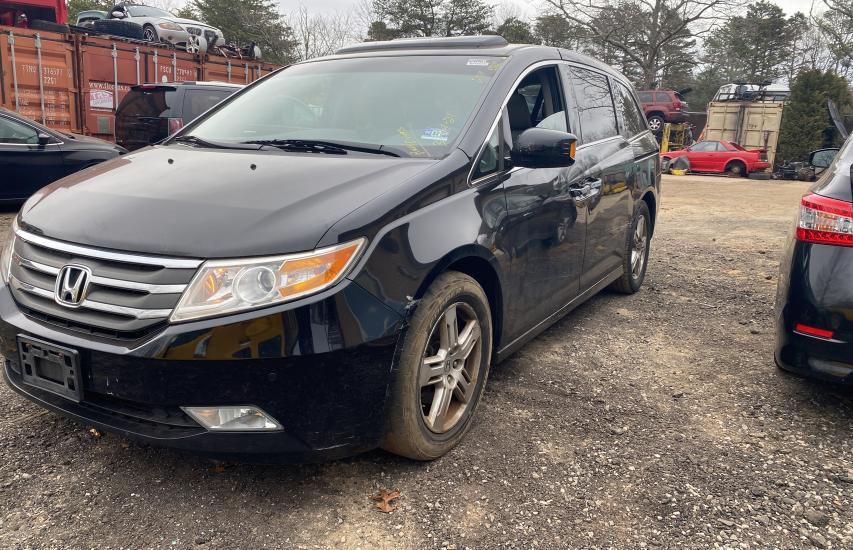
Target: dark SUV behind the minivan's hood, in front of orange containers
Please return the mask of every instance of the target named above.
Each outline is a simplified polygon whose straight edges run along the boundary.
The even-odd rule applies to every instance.
[[[226,82],[133,86],[116,110],[116,143],[133,151],[160,142],[242,87]]]

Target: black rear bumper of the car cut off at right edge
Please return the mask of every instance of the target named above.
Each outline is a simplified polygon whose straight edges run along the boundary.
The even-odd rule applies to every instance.
[[[853,248],[791,240],[776,300],[776,364],[788,371],[853,384]],[[832,330],[819,338],[802,323]]]

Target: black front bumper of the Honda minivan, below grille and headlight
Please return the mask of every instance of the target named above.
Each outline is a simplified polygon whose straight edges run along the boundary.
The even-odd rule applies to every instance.
[[[104,431],[249,462],[325,460],[375,448],[385,429],[401,326],[398,314],[345,281],[287,306],[171,325],[141,342],[114,342],[29,318],[0,287],[0,345],[12,389]],[[80,403],[23,383],[20,334],[80,353]],[[250,404],[283,431],[209,432],[180,409]]]

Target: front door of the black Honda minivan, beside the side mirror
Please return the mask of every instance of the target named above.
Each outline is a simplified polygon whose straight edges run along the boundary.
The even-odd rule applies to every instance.
[[[557,66],[528,74],[504,110],[506,154],[524,130],[569,130]],[[504,244],[512,258],[515,287],[511,322],[535,325],[578,295],[586,239],[583,166],[515,168],[504,181],[507,226]],[[507,327],[510,328],[510,327]]]

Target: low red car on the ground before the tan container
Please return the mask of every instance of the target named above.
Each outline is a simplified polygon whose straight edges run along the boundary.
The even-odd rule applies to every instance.
[[[744,149],[730,141],[700,141],[681,151],[661,153],[661,163],[668,166],[678,157],[687,157],[691,172],[719,172],[746,176],[750,172],[770,168],[767,151]]]

